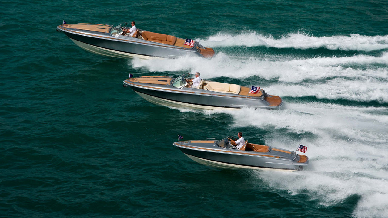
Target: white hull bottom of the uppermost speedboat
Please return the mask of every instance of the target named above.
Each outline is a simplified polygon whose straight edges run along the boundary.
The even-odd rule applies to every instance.
[[[70,38],[71,39],[71,38]],[[145,56],[145,55],[136,55],[136,54],[131,54],[131,53],[126,53],[122,51],[114,51],[114,50],[109,50],[106,48],[100,48],[94,45],[89,45],[87,43],[83,43],[74,39],[71,39],[76,45],[80,46],[81,48],[98,54],[98,55],[106,55],[106,56],[111,56],[111,57],[116,57],[116,58],[133,58],[133,57],[138,57],[138,58],[144,58],[144,59],[163,59],[159,57],[151,57],[151,56]]]

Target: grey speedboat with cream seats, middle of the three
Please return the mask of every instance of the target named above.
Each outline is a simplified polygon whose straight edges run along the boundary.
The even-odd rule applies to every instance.
[[[123,86],[133,89],[145,100],[156,105],[191,109],[282,109],[282,99],[260,89],[249,93],[251,88],[237,84],[202,79],[198,88],[188,88],[183,74],[177,78],[167,76],[132,77],[123,81]]]

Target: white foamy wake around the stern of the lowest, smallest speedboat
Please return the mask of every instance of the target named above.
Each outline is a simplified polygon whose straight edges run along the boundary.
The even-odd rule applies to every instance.
[[[265,136],[268,145],[295,150],[301,142],[308,147],[306,155],[310,165],[305,170],[252,172],[253,177],[294,195],[305,195],[308,191],[311,200],[319,200],[324,206],[333,206],[357,195],[360,200],[354,216],[388,217],[386,107],[323,103],[290,104],[289,107],[310,114],[293,110],[228,112],[234,117],[230,131],[248,124],[257,129],[253,132],[270,132]],[[284,134],[287,132],[292,134]]]

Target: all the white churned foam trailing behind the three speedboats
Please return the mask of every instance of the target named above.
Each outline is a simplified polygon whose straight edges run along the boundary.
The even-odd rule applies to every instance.
[[[247,40],[239,40],[245,37]],[[238,36],[217,34],[199,39],[203,45],[271,46],[275,48],[327,48],[372,51],[388,48],[388,36],[313,37],[288,34],[279,39],[248,33]],[[240,44],[239,44],[240,43]],[[357,195],[356,217],[388,217],[388,53],[350,57],[240,57],[218,53],[211,59],[182,57],[176,60],[141,60],[133,67],[151,72],[201,72],[201,77],[231,77],[258,85],[267,93],[290,97],[281,111],[223,111],[234,118],[234,127],[251,126],[279,134],[313,136],[295,141],[265,136],[275,147],[294,150],[301,142],[308,146],[310,165],[294,173],[253,172],[274,189],[290,194],[305,193],[322,205],[340,203]],[[163,75],[163,73],[161,73]],[[160,74],[159,74],[160,75]],[[158,76],[159,76],[158,75]],[[254,79],[252,79],[254,78]],[[382,106],[347,106],[334,103],[293,101],[314,96],[318,99],[378,101]],[[298,112],[299,111],[299,112]],[[191,113],[191,110],[182,110]],[[300,113],[305,112],[305,113]],[[200,112],[212,115],[219,112]],[[276,135],[276,134],[274,134]],[[248,138],[249,136],[247,136]]]

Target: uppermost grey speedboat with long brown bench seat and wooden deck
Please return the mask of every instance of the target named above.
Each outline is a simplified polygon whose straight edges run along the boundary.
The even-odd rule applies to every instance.
[[[125,34],[125,26],[104,24],[62,24],[62,31],[81,48],[112,57],[178,58],[185,55],[210,58],[214,50],[198,42],[185,45],[186,39],[137,29],[133,36]],[[194,40],[193,40],[194,41]],[[187,43],[189,44],[189,43]]]

